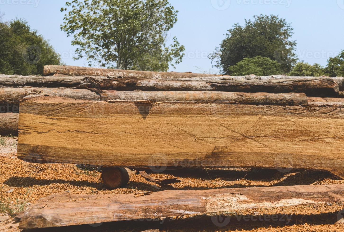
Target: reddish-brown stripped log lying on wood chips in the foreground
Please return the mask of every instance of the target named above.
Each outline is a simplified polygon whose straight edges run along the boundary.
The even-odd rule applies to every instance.
[[[142,195],[52,195],[30,205],[20,221],[19,228],[64,227],[332,203],[344,200],[344,185],[166,190]]]

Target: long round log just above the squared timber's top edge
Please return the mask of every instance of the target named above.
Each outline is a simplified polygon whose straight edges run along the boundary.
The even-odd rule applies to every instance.
[[[304,93],[242,93],[217,91],[113,91],[102,90],[92,92],[86,89],[71,88],[0,88],[0,107],[7,104],[19,105],[25,96],[49,95],[72,99],[95,101],[127,100],[127,101],[226,101],[238,104],[262,104],[293,106],[307,104]]]

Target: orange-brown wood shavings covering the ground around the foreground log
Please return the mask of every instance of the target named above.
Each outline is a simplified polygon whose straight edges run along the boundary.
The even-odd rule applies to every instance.
[[[180,183],[159,186],[159,190],[139,175],[131,178],[126,188],[109,190],[101,182],[100,173],[80,170],[73,164],[30,164],[16,157],[16,138],[7,137],[6,147],[0,145],[0,215],[24,210],[30,203],[59,192],[74,194],[128,194],[141,191],[162,191],[166,189],[196,190],[214,188],[263,187],[282,185],[339,184],[328,173],[304,171],[288,174],[263,172],[260,175],[250,169],[183,169],[163,174],[151,174],[157,179],[178,178]],[[343,225],[334,225],[337,213],[344,206],[341,202],[331,205],[306,205],[273,209],[245,210],[230,216],[226,227],[212,223],[212,215],[165,219],[163,221],[129,221],[104,223],[99,227],[89,225],[55,228],[49,231],[344,231]],[[263,220],[268,217],[288,216],[286,220]],[[240,215],[246,215],[240,219]],[[256,215],[256,216],[254,216]],[[279,215],[279,216],[278,216]],[[285,217],[285,216],[284,216]],[[0,222],[0,230],[19,231],[15,221]]]

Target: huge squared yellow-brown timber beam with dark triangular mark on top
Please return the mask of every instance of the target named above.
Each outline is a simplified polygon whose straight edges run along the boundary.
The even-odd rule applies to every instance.
[[[156,161],[302,168],[344,178],[344,111],[336,107],[40,97],[21,102],[19,118],[20,159],[128,168]]]

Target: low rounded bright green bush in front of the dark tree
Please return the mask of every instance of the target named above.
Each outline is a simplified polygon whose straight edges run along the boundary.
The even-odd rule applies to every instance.
[[[255,74],[258,76],[269,76],[282,74],[281,64],[267,57],[255,56],[244,58],[236,65],[230,66],[227,73],[232,76],[246,76]]]

